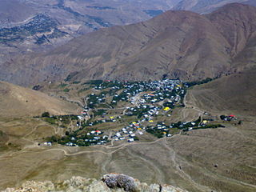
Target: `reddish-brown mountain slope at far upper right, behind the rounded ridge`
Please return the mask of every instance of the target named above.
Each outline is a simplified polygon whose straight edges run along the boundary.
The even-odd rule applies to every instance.
[[[256,11],[254,6],[232,3],[206,15],[232,47],[234,56],[256,37]]]

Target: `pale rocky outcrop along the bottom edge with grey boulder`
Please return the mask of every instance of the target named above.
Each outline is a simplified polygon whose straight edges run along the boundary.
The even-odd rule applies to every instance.
[[[48,192],[48,191],[68,191],[68,192],[185,192],[186,190],[169,185],[151,184],[139,182],[137,179],[124,174],[106,174],[102,180],[91,178],[72,177],[64,182],[25,182],[16,189],[8,188],[2,192]]]

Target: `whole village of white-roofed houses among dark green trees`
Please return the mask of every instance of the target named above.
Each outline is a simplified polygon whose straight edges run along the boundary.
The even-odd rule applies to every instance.
[[[53,142],[65,146],[114,145],[114,142],[136,142],[144,134],[155,138],[172,137],[190,130],[225,127],[212,123],[212,119],[199,117],[191,122],[164,122],[162,117],[171,118],[177,107],[184,107],[184,97],[190,85],[181,80],[165,79],[154,82],[118,82],[94,80],[86,82],[94,93],[86,95],[85,106],[78,116],[71,119],[47,117],[47,121],[66,119],[73,129],[62,137],[51,137],[44,143]],[[223,118],[223,117],[222,117]],[[231,120],[225,116],[223,120]],[[67,129],[68,130],[68,129]]]

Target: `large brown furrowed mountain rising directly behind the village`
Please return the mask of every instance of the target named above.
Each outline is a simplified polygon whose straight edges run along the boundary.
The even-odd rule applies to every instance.
[[[255,17],[254,6],[238,3],[206,15],[166,11],[146,22],[74,38],[46,54],[6,62],[0,77],[25,86],[63,79],[214,78],[247,66],[234,64],[234,58],[254,54],[249,42],[255,38]]]

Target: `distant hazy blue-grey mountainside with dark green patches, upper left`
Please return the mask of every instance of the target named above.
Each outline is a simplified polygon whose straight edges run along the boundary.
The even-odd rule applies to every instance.
[[[144,21],[171,9],[177,2],[2,0],[0,64],[15,55],[53,49],[102,27]]]

